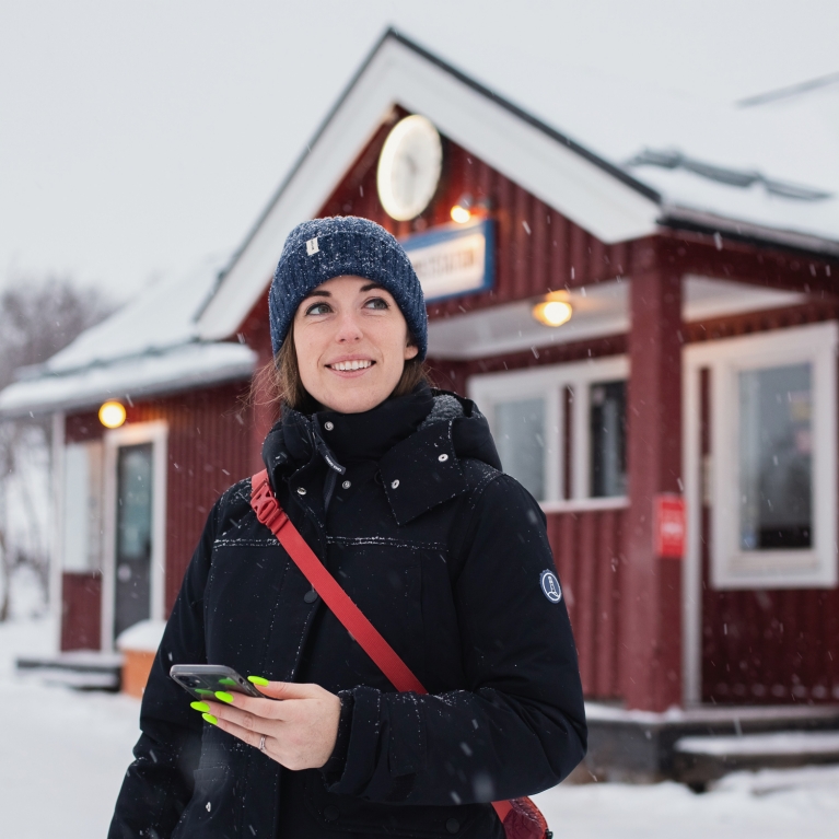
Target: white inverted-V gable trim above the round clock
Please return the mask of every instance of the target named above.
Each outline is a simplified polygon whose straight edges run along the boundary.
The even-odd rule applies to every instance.
[[[232,335],[265,293],[282,244],[313,218],[399,104],[602,242],[652,234],[655,200],[569,149],[394,37],[386,37],[292,171],[198,323],[200,337]]]

